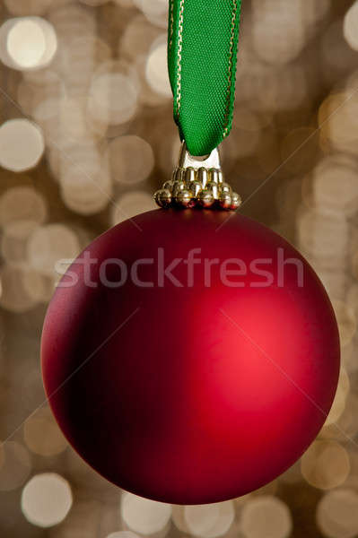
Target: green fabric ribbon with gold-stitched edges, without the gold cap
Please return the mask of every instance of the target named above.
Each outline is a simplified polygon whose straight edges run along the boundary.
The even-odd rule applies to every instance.
[[[170,0],[168,67],[174,119],[192,155],[230,133],[241,0]]]

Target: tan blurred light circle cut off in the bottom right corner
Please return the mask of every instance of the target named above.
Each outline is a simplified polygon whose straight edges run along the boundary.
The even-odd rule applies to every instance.
[[[316,517],[327,538],[354,538],[358,534],[358,494],[348,489],[329,491],[320,499]]]

